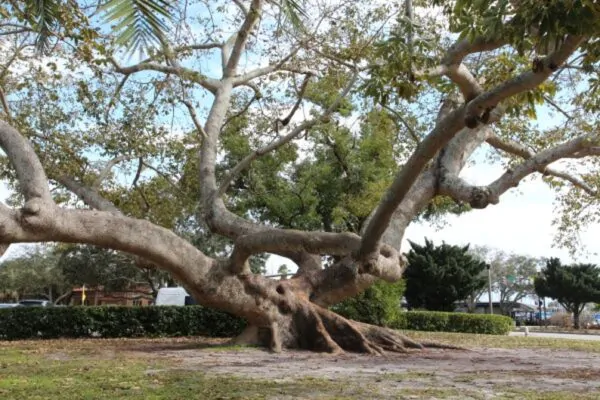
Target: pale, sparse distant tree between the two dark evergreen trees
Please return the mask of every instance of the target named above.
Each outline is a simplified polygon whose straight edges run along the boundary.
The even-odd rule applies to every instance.
[[[539,259],[510,254],[485,246],[471,248],[469,252],[490,265],[492,288],[500,295],[500,308],[503,314],[509,314],[516,302],[535,293],[533,278],[537,274]],[[487,279],[487,273],[484,275]],[[485,290],[486,287],[478,290],[473,297],[479,298]]]

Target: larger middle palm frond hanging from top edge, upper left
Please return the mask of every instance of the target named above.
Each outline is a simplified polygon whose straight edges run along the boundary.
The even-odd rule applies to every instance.
[[[102,9],[107,22],[116,22],[117,44],[143,53],[161,44],[174,19],[167,0],[109,0]]]

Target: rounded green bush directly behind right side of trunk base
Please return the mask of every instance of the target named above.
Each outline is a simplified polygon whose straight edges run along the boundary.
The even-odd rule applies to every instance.
[[[400,299],[404,293],[403,281],[379,281],[357,296],[336,304],[332,310],[355,321],[392,326],[400,317]]]

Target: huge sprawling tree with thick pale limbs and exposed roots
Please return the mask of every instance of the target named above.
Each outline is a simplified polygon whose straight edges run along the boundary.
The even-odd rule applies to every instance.
[[[128,4],[110,13],[118,40],[98,22],[101,2],[0,5],[2,173],[18,189],[0,209],[2,243],[127,252],[246,318],[240,340],[377,353],[420,345],[328,307],[399,280],[420,215],[496,204],[541,173],[577,210],[562,214],[562,233],[596,217],[597,2],[182,1],[163,13],[170,28],[148,19],[149,2],[108,2]],[[120,47],[148,37],[157,47],[143,56]],[[536,124],[548,110],[556,124]],[[392,134],[354,128],[378,115]],[[352,157],[375,180],[344,162],[359,143]],[[460,172],[486,144],[506,171],[474,186]],[[583,168],[550,165],[559,160]],[[313,172],[329,184],[314,191]],[[282,202],[264,196],[286,182]],[[315,227],[313,211],[331,218]],[[227,257],[200,251],[182,224],[227,238]],[[295,276],[253,274],[249,257],[265,252],[293,260]]]

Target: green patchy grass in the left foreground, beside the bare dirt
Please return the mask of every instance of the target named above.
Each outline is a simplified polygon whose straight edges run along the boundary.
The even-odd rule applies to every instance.
[[[180,369],[180,360],[140,353],[164,348],[248,350],[241,346],[194,346],[193,340],[57,340],[0,344],[1,399],[352,399],[369,387],[300,377],[244,379]],[[133,350],[133,353],[129,352]]]

